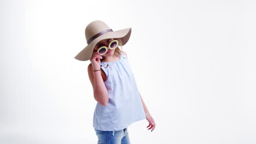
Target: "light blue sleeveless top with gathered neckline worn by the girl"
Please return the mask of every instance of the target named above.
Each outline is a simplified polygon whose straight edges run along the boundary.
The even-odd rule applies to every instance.
[[[102,131],[118,131],[145,119],[141,97],[127,57],[121,54],[119,61],[101,62],[101,69],[107,75],[104,84],[109,101],[106,106],[96,104],[93,127]]]

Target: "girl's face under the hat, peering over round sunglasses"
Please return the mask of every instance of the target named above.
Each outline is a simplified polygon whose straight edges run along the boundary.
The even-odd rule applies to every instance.
[[[105,51],[106,49],[102,48],[102,46],[106,46],[105,48],[107,48],[107,52],[105,52],[104,54],[102,53],[103,54],[102,56],[112,56],[115,49],[113,49],[113,50],[109,49],[109,44],[111,43],[112,47],[115,47],[115,46],[118,45],[118,43],[112,42],[113,40],[115,40],[115,39],[103,39],[103,40],[101,40],[100,42],[98,42],[95,45],[94,52],[97,52],[98,49],[100,49],[99,52]]]

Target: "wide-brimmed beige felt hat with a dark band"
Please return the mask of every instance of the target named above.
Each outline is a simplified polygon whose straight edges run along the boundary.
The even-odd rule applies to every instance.
[[[99,41],[103,39],[120,38],[122,45],[125,45],[129,40],[130,35],[131,28],[113,31],[103,21],[92,21],[85,28],[85,38],[88,45],[84,47],[84,49],[80,51],[74,58],[78,59],[79,61],[88,61],[92,56],[95,45]]]

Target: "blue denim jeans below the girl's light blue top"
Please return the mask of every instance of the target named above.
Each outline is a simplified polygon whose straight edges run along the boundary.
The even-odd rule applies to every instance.
[[[118,131],[101,131],[95,129],[98,144],[130,144],[127,128]]]

